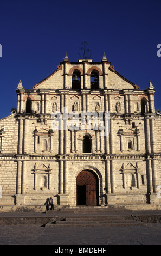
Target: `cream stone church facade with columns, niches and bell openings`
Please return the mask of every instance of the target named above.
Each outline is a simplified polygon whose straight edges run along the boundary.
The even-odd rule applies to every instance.
[[[114,205],[160,209],[161,114],[150,82],[140,89],[104,53],[100,62],[66,54],[24,89],[0,120],[0,209]],[[3,95],[2,95],[3,96]]]

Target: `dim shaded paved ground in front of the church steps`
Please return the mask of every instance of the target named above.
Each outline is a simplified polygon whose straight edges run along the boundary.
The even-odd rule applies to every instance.
[[[108,228],[1,225],[0,245],[161,245],[161,223]]]

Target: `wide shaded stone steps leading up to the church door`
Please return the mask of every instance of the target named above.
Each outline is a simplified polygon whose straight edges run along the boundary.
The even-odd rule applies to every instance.
[[[61,209],[53,222],[45,227],[109,227],[146,225],[144,222],[134,220],[131,210],[115,208],[70,208]],[[52,215],[48,211],[47,215]]]

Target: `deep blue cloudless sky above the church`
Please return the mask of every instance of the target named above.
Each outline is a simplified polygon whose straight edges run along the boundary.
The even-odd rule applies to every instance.
[[[121,75],[156,88],[161,110],[160,0],[0,0],[0,118],[17,107],[20,79],[31,89],[57,69],[67,52],[77,61],[88,42],[93,61],[107,59]]]

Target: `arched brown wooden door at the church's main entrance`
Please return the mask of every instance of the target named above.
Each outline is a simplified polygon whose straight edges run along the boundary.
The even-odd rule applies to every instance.
[[[92,170],[82,170],[76,178],[76,205],[99,205],[99,180]]]

